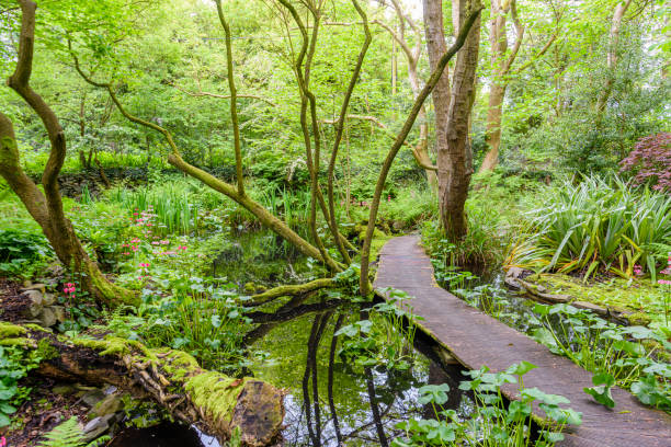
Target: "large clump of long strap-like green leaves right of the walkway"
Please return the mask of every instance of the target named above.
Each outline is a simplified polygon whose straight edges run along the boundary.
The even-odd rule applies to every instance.
[[[587,279],[598,271],[630,277],[640,264],[655,280],[671,251],[671,197],[619,179],[592,176],[549,190],[527,219],[528,234],[512,245],[509,265]]]

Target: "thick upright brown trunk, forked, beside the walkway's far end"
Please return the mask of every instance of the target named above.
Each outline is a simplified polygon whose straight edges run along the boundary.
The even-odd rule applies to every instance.
[[[476,3],[474,0],[459,0],[459,26],[463,18],[467,15],[467,7],[473,10]],[[442,0],[424,0],[423,4],[429,62],[433,69],[445,51]],[[464,47],[457,54],[452,89],[448,79],[442,77],[433,90],[439,206],[441,222],[452,240],[458,240],[467,232],[464,205],[473,174],[468,121],[475,93],[479,38],[480,18],[478,15]]]

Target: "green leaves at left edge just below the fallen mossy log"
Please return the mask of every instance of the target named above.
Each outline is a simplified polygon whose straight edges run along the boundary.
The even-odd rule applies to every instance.
[[[0,346],[0,427],[11,423],[16,408],[29,398],[31,389],[19,385],[42,360],[39,349]]]

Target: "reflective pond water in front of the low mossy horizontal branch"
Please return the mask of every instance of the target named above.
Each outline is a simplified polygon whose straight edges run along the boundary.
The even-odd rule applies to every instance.
[[[287,318],[285,310],[276,313],[280,320]],[[338,320],[344,325],[359,319],[357,308],[312,302],[295,307],[292,317],[288,321],[274,321],[271,317],[248,336],[252,359],[248,374],[288,390],[282,445],[387,445],[400,434],[395,427],[397,423],[432,414],[430,409],[418,404],[418,389],[429,383],[448,383],[452,394],[446,408],[460,414],[469,411],[468,398],[457,389],[464,377],[460,368],[430,358],[433,357],[430,341],[418,337],[412,353],[414,364],[408,370],[385,367],[360,370],[331,355]],[[126,429],[112,446],[218,447],[219,444],[193,428],[161,424]]]

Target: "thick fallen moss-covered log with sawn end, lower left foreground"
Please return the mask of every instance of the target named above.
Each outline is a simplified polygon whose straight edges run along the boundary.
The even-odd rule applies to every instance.
[[[0,322],[0,345],[39,349],[36,374],[60,380],[114,385],[148,398],[223,444],[239,431],[243,446],[277,440],[284,419],[283,391],[244,377],[202,369],[182,351],[148,348],[115,336],[66,339],[35,325]]]

